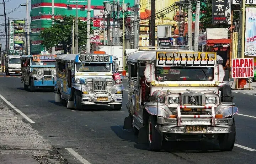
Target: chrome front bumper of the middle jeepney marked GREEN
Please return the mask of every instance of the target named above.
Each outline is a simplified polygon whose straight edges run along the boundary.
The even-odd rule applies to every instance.
[[[107,100],[97,100],[100,97],[107,97]],[[123,95],[122,94],[111,94],[109,92],[96,92],[94,94],[83,94],[82,95],[82,105],[112,105],[112,104],[122,104]]]

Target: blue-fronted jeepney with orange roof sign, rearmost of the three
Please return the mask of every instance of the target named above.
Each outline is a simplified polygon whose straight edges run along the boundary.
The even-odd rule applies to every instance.
[[[35,92],[36,88],[52,88],[56,84],[55,57],[46,52],[39,55],[24,55],[21,60],[21,82],[24,89]]]

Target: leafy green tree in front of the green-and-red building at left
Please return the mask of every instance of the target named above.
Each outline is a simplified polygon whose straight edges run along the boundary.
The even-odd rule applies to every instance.
[[[43,39],[43,46],[50,49],[58,44],[63,45],[64,53],[70,50],[71,46],[71,27],[73,26],[74,16],[63,16],[62,20],[54,19],[52,27],[41,31],[40,37]],[[84,21],[78,21],[78,46],[86,45],[86,25]]]

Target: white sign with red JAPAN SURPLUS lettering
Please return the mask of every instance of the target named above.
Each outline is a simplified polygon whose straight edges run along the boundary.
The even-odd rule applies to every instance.
[[[253,58],[232,59],[232,78],[254,77]]]

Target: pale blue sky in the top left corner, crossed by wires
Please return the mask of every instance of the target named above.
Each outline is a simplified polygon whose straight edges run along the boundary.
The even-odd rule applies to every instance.
[[[3,0],[0,0],[0,3],[2,3]],[[27,0],[5,0],[5,10],[6,13],[11,12],[12,10],[16,9],[16,7],[20,6],[20,4],[24,4],[26,5]],[[28,4],[28,10],[30,13],[30,6],[31,6],[31,0],[28,0],[29,4]],[[2,49],[6,49],[5,48],[5,26],[4,26],[4,5],[0,4],[0,43],[2,43]],[[16,18],[16,19],[24,19],[26,18],[26,6],[20,6],[18,7],[18,9],[16,9],[15,11],[9,13],[8,15],[6,15],[6,19],[8,20],[9,18]],[[26,18],[27,19],[27,18]],[[29,22],[30,22],[30,17],[28,18]],[[7,22],[8,23],[8,22]],[[7,27],[8,30],[8,27]]]

